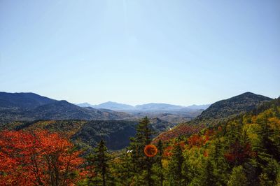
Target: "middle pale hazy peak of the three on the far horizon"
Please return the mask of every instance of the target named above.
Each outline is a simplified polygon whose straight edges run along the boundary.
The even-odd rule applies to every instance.
[[[183,106],[175,106],[167,103],[148,103],[135,106],[137,110],[179,110]]]

